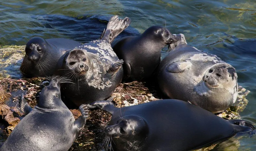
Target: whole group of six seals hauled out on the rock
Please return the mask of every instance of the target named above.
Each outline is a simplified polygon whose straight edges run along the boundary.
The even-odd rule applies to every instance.
[[[0,150],[68,150],[86,124],[88,109],[95,108],[112,116],[103,129],[106,150],[187,151],[255,132],[250,122],[213,114],[236,101],[234,67],[189,46],[183,34],[162,26],[124,37],[112,45],[113,50],[111,43],[130,24],[128,17],[113,16],[98,40],[83,45],[68,39],[30,39],[21,72],[58,76],[49,78],[34,109],[21,95],[20,110],[26,116]],[[166,45],[169,54],[161,61]],[[111,102],[123,76],[141,80],[154,78],[154,72],[160,90],[172,99],[123,108]],[[82,116],[75,120],[62,99],[79,106]]]

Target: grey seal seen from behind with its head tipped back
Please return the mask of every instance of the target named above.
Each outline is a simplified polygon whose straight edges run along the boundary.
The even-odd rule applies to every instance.
[[[40,93],[34,109],[20,99],[20,109],[27,114],[4,142],[1,151],[60,151],[68,150],[79,131],[84,128],[88,109],[81,105],[82,114],[76,121],[71,111],[60,99],[60,82],[57,77]]]

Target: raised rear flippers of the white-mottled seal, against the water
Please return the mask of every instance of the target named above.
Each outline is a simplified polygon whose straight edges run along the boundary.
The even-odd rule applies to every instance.
[[[109,19],[107,29],[104,35],[101,35],[102,40],[106,40],[108,43],[111,44],[113,40],[116,38],[118,34],[120,34],[125,28],[127,28],[131,24],[131,19],[125,17],[124,19],[118,19],[118,16],[113,16]]]

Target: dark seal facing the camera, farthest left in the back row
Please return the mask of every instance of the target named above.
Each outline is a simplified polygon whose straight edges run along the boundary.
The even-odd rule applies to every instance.
[[[28,77],[51,76],[60,57],[82,44],[70,39],[33,37],[26,44],[20,71]]]

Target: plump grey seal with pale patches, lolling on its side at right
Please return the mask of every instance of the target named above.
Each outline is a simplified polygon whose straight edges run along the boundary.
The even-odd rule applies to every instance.
[[[158,84],[172,99],[189,101],[213,113],[236,102],[238,85],[234,67],[216,55],[186,44],[175,47],[160,63]]]

